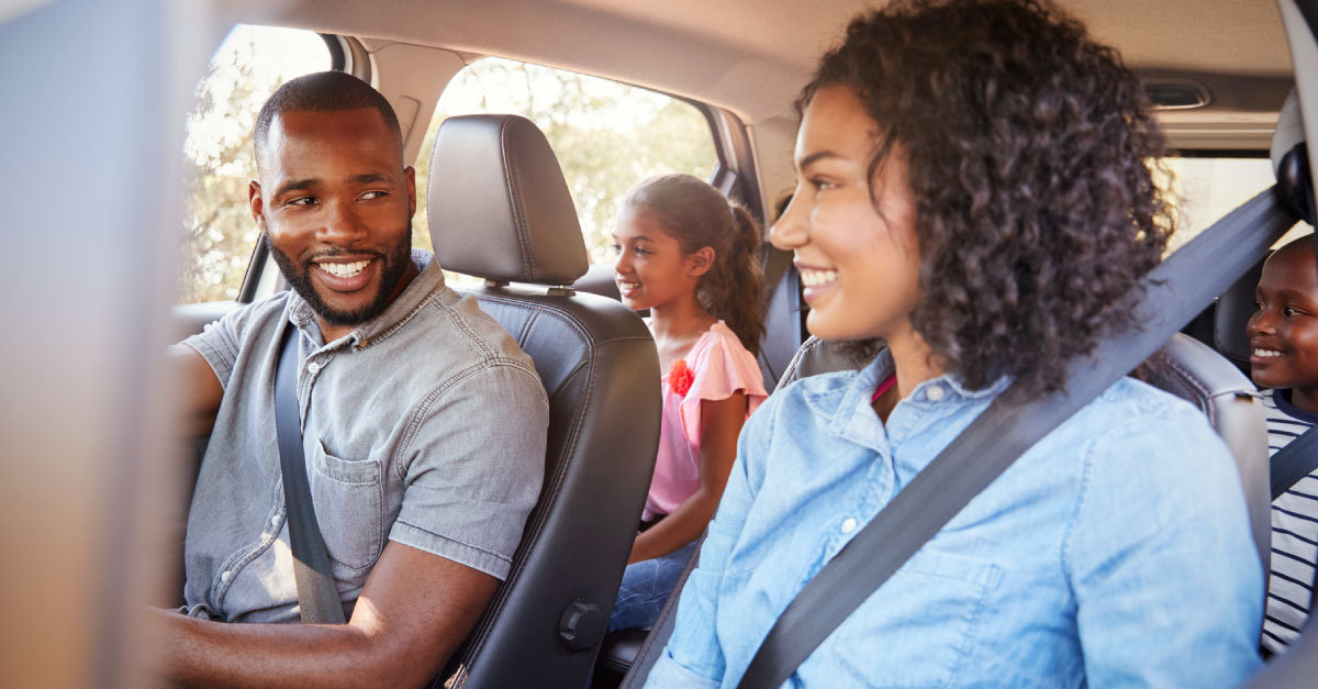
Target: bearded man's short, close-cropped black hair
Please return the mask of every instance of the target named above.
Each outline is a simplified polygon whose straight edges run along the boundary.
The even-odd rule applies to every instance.
[[[398,141],[398,160],[403,156],[403,133],[389,100],[366,82],[343,71],[318,71],[285,82],[277,88],[256,116],[256,160],[270,136],[274,117],[285,112],[339,112],[344,110],[374,108],[385,119]]]

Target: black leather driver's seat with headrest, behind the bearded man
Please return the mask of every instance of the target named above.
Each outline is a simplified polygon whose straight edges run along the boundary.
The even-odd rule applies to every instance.
[[[654,341],[617,301],[564,286],[587,272],[587,251],[558,160],[531,121],[449,117],[430,169],[436,257],[485,279],[472,294],[535,360],[550,397],[540,500],[507,581],[438,681],[585,686],[654,470]]]

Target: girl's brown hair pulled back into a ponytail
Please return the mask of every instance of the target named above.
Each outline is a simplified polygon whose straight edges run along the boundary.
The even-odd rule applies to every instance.
[[[696,285],[696,298],[728,323],[746,350],[759,354],[764,337],[763,234],[750,211],[689,174],[651,177],[627,193],[622,206],[654,214],[683,253],[714,249],[714,264]]]

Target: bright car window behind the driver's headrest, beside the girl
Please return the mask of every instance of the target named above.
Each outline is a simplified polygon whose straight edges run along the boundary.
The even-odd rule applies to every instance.
[[[608,79],[484,58],[444,88],[416,161],[413,246],[431,249],[426,177],[439,125],[453,115],[515,114],[550,140],[576,203],[590,263],[609,263],[614,210],[637,182],[663,173],[709,180],[718,164],[704,114],[684,100]]]

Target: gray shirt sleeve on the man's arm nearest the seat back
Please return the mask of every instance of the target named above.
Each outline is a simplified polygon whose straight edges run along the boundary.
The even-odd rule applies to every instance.
[[[539,379],[490,366],[418,408],[401,451],[403,500],[389,540],[503,579],[540,494],[548,403]]]

